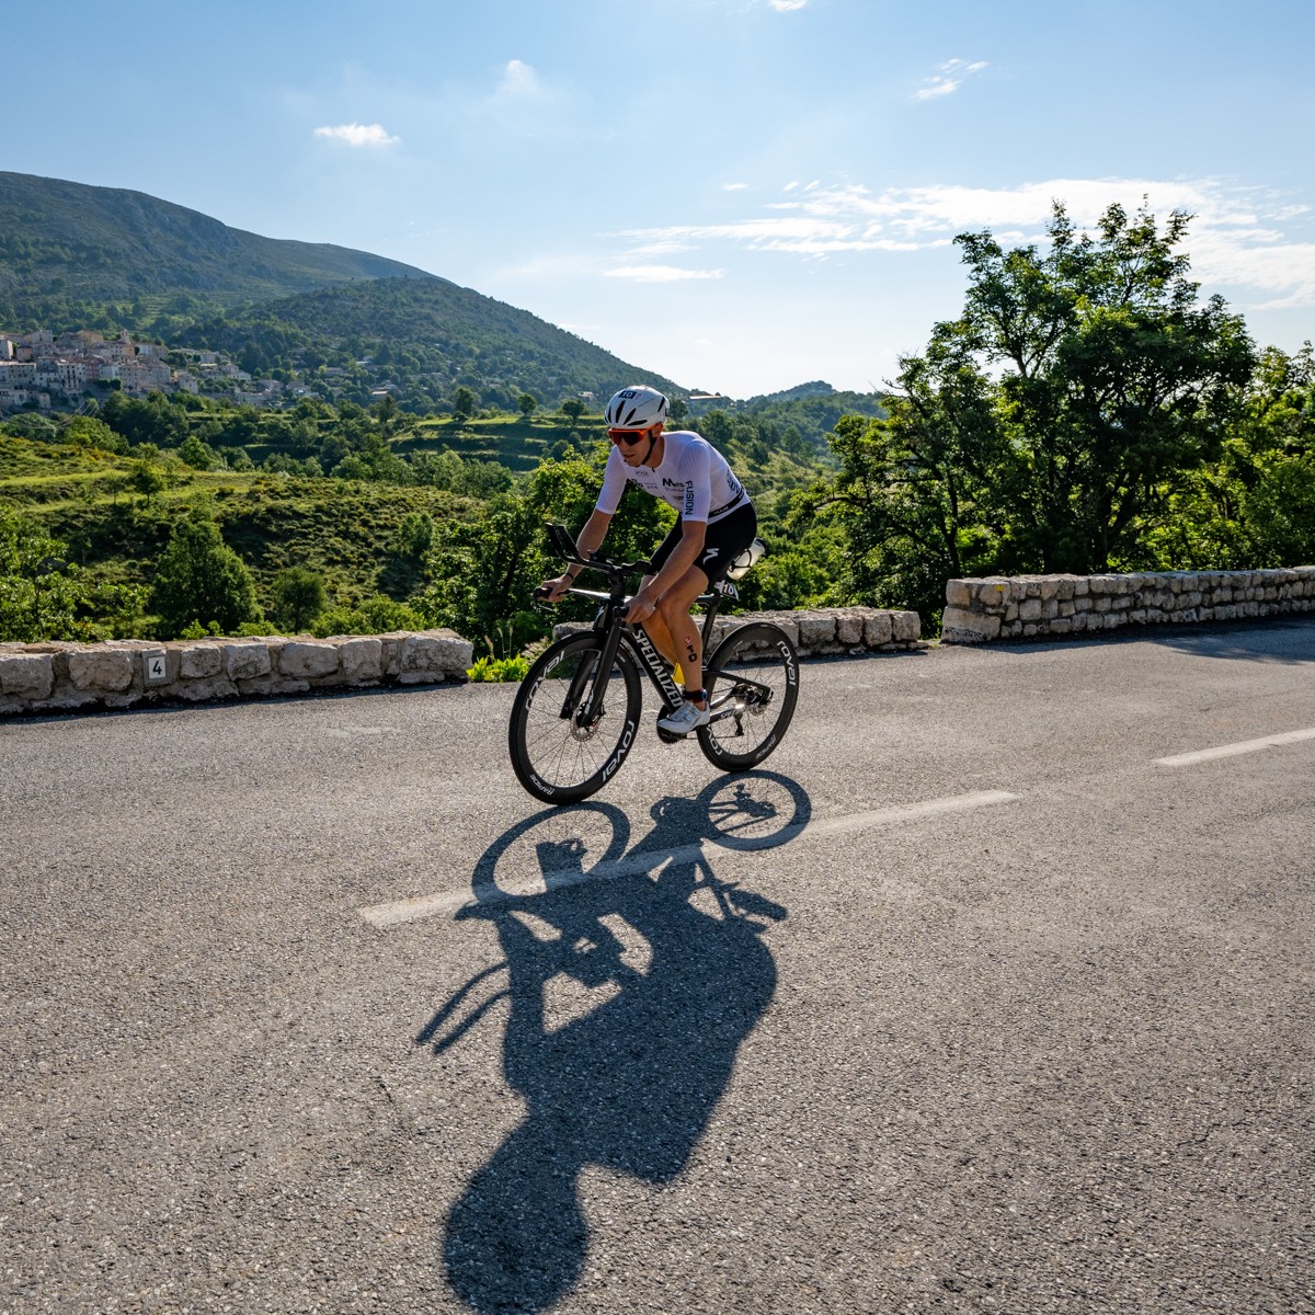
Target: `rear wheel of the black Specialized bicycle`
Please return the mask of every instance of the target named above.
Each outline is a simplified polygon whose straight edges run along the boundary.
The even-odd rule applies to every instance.
[[[794,717],[800,655],[780,626],[740,626],[707,659],[704,688],[713,719],[698,727],[698,747],[723,772],[747,772],[781,743]]]

